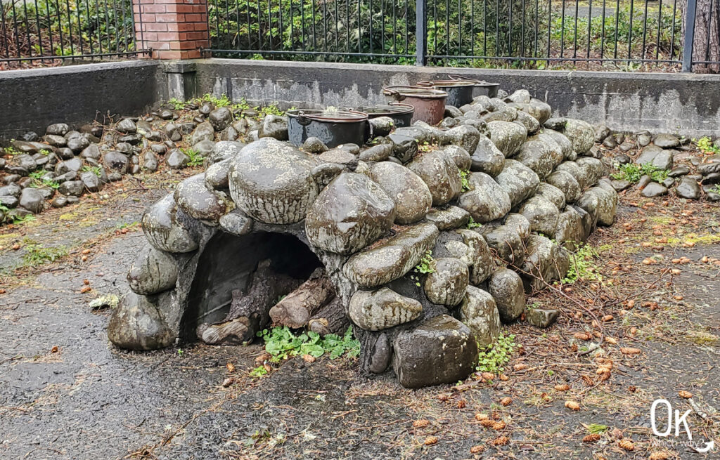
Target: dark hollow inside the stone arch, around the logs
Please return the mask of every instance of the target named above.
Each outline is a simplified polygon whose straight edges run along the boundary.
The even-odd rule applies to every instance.
[[[272,306],[318,267],[323,267],[320,259],[292,234],[258,231],[235,236],[217,232],[199,255],[181,321],[181,337],[196,341],[199,326],[233,321],[233,299],[248,295],[253,280],[266,285],[266,294],[272,298],[264,300]],[[266,306],[258,305],[258,311],[268,310]],[[267,318],[257,320],[263,327]]]

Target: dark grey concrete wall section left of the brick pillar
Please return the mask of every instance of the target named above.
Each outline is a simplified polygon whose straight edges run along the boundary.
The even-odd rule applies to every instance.
[[[138,115],[158,98],[158,69],[156,61],[135,60],[0,72],[0,137]]]

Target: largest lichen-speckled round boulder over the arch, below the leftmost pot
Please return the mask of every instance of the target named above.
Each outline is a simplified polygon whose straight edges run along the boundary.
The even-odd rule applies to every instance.
[[[235,204],[266,224],[294,224],[318,196],[317,161],[272,137],[248,144],[233,158],[228,181]]]

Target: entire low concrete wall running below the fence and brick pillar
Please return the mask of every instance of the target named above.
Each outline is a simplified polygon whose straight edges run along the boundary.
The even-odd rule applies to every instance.
[[[204,59],[151,60],[0,72],[0,137],[42,134],[55,122],[138,115],[167,98],[227,93],[282,106],[364,106],[384,102],[385,85],[448,73],[527,88],[559,116],[613,129],[720,136],[720,75],[418,68],[400,65]]]

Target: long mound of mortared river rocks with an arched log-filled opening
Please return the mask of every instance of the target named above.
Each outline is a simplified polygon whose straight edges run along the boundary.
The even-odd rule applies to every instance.
[[[551,116],[525,90],[478,96],[439,127],[372,119],[369,146],[335,149],[293,147],[268,116],[259,139],[217,142],[204,173],[146,211],[134,293],[109,339],[238,344],[269,323],[320,334],[351,323],[364,375],[392,369],[405,387],[466,378],[526,292],[562,279],[568,250],[615,219],[593,126]],[[287,238],[258,243],[267,235]],[[309,255],[279,264],[289,253],[277,242],[291,239]],[[530,312],[539,326],[557,315]]]

